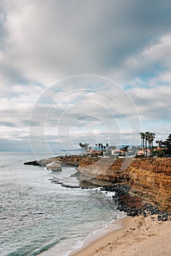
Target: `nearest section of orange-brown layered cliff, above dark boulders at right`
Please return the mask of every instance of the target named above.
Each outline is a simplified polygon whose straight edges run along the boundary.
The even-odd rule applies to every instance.
[[[137,159],[127,171],[133,194],[171,212],[171,159]]]

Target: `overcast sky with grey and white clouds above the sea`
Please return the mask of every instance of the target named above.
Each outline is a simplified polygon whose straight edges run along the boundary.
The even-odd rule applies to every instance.
[[[1,0],[0,151],[167,138],[170,13],[170,0]]]

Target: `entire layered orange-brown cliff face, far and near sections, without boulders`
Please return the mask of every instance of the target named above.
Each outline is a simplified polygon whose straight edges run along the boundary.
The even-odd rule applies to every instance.
[[[100,159],[80,161],[80,179],[128,183],[131,194],[171,213],[171,159]]]

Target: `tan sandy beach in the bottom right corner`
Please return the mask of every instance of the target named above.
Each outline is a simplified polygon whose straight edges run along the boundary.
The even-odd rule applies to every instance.
[[[155,218],[155,219],[153,219]],[[120,221],[121,222],[121,221]],[[99,238],[73,256],[170,256],[171,222],[155,216],[126,217],[122,228]],[[115,225],[115,223],[113,224]]]

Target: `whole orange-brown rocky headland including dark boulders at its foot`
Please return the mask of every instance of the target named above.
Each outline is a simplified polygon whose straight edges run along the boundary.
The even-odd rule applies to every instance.
[[[62,166],[79,165],[77,178],[80,181],[88,180],[100,186],[117,183],[102,190],[115,192],[113,201],[120,205],[121,211],[133,214],[133,210],[137,210],[137,214],[147,216],[158,214],[161,219],[165,218],[164,211],[171,213],[171,158],[132,159],[129,162],[127,159],[63,156],[29,162],[29,165],[46,166],[56,161],[61,161]],[[142,207],[140,199],[148,204]]]

